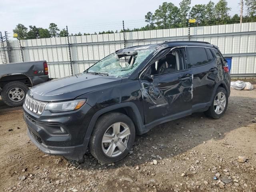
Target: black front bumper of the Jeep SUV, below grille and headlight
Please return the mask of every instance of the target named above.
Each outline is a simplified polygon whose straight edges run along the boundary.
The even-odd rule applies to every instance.
[[[82,160],[89,139],[85,139],[93,109],[85,104],[80,110],[53,114],[34,114],[23,105],[24,121],[30,140],[44,153]],[[64,131],[61,131],[63,128]]]

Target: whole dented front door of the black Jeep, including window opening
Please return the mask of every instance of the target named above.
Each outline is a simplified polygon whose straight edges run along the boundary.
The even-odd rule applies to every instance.
[[[191,70],[184,68],[184,53],[185,50],[179,48],[154,60],[140,79],[145,124],[158,124],[190,114],[193,77]]]

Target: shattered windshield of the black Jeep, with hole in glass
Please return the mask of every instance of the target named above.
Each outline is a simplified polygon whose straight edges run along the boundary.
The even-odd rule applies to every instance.
[[[114,76],[116,78],[132,74],[154,49],[112,53],[86,70],[87,73]]]

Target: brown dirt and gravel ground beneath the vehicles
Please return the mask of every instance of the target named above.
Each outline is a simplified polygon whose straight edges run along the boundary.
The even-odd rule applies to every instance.
[[[255,82],[252,91],[231,91],[222,118],[196,113],[156,126],[112,165],[90,154],[80,164],[45,155],[30,142],[22,114],[0,100],[0,191],[256,191]]]

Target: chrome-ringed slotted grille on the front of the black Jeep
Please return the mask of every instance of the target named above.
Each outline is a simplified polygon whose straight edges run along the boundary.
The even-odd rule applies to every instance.
[[[30,96],[26,95],[25,106],[26,108],[28,108],[28,110],[40,115],[44,111],[44,107],[46,106],[46,103],[35,100]]]

